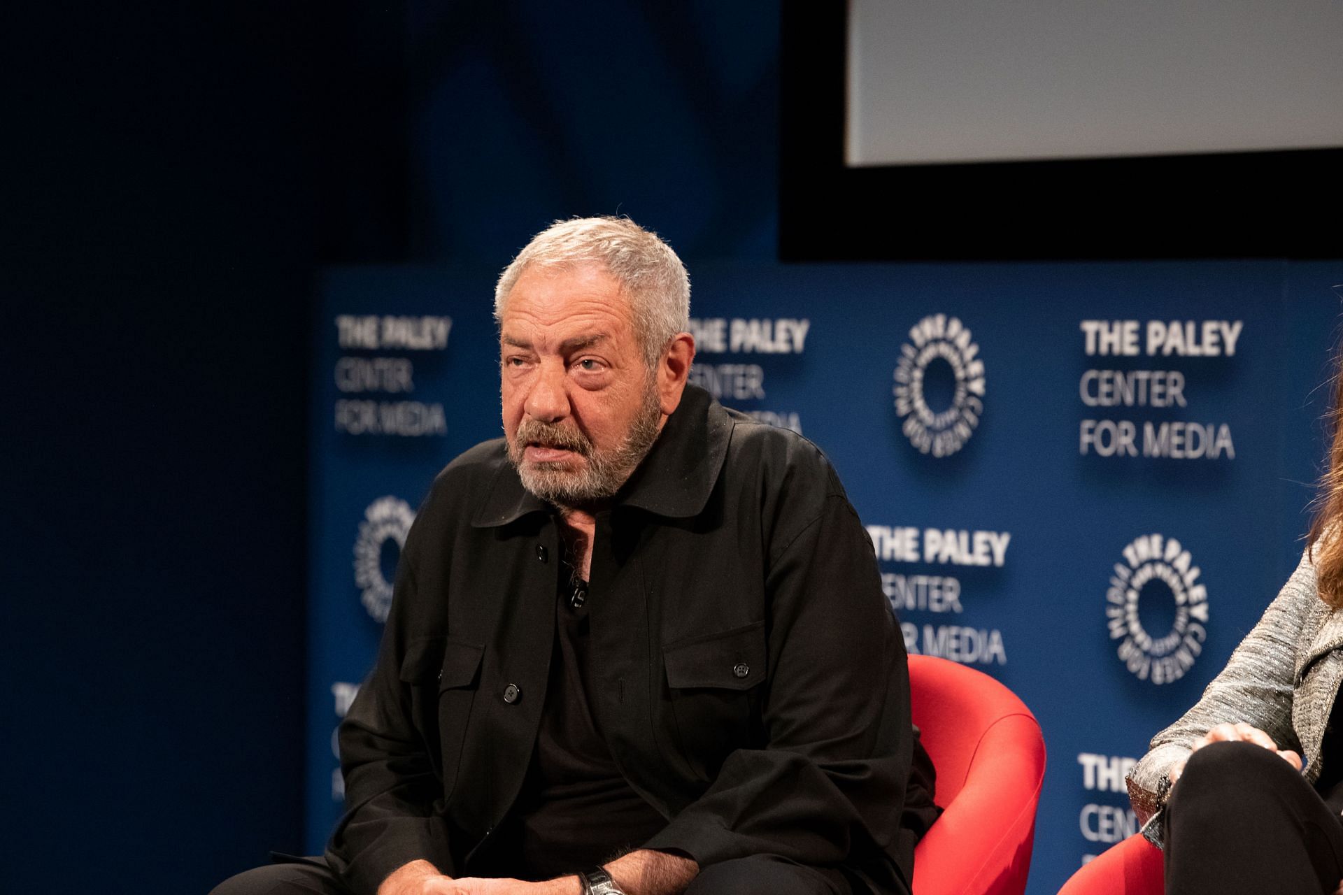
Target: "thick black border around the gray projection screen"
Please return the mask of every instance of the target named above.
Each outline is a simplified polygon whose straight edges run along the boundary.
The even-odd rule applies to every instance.
[[[1343,149],[847,166],[846,7],[782,5],[783,260],[1343,256]]]

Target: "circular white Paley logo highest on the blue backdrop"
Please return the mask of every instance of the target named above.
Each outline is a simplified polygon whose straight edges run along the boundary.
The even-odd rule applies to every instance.
[[[909,330],[896,364],[900,431],[920,454],[951,456],[984,412],[984,362],[960,318],[932,314]]]

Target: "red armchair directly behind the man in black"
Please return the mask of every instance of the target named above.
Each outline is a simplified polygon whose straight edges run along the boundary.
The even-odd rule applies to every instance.
[[[1021,895],[1045,778],[1039,723],[1007,687],[955,662],[909,656],[909,686],[944,808],[915,849],[915,895]]]

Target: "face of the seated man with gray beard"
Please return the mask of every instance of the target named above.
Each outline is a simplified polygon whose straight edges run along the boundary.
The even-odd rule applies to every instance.
[[[615,494],[663,421],[630,302],[598,266],[528,267],[500,321],[509,459],[561,507]]]

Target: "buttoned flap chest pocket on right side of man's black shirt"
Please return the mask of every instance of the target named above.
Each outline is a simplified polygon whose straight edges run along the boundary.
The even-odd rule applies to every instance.
[[[763,743],[766,655],[763,621],[662,647],[677,737],[704,780],[716,778],[733,750]]]

